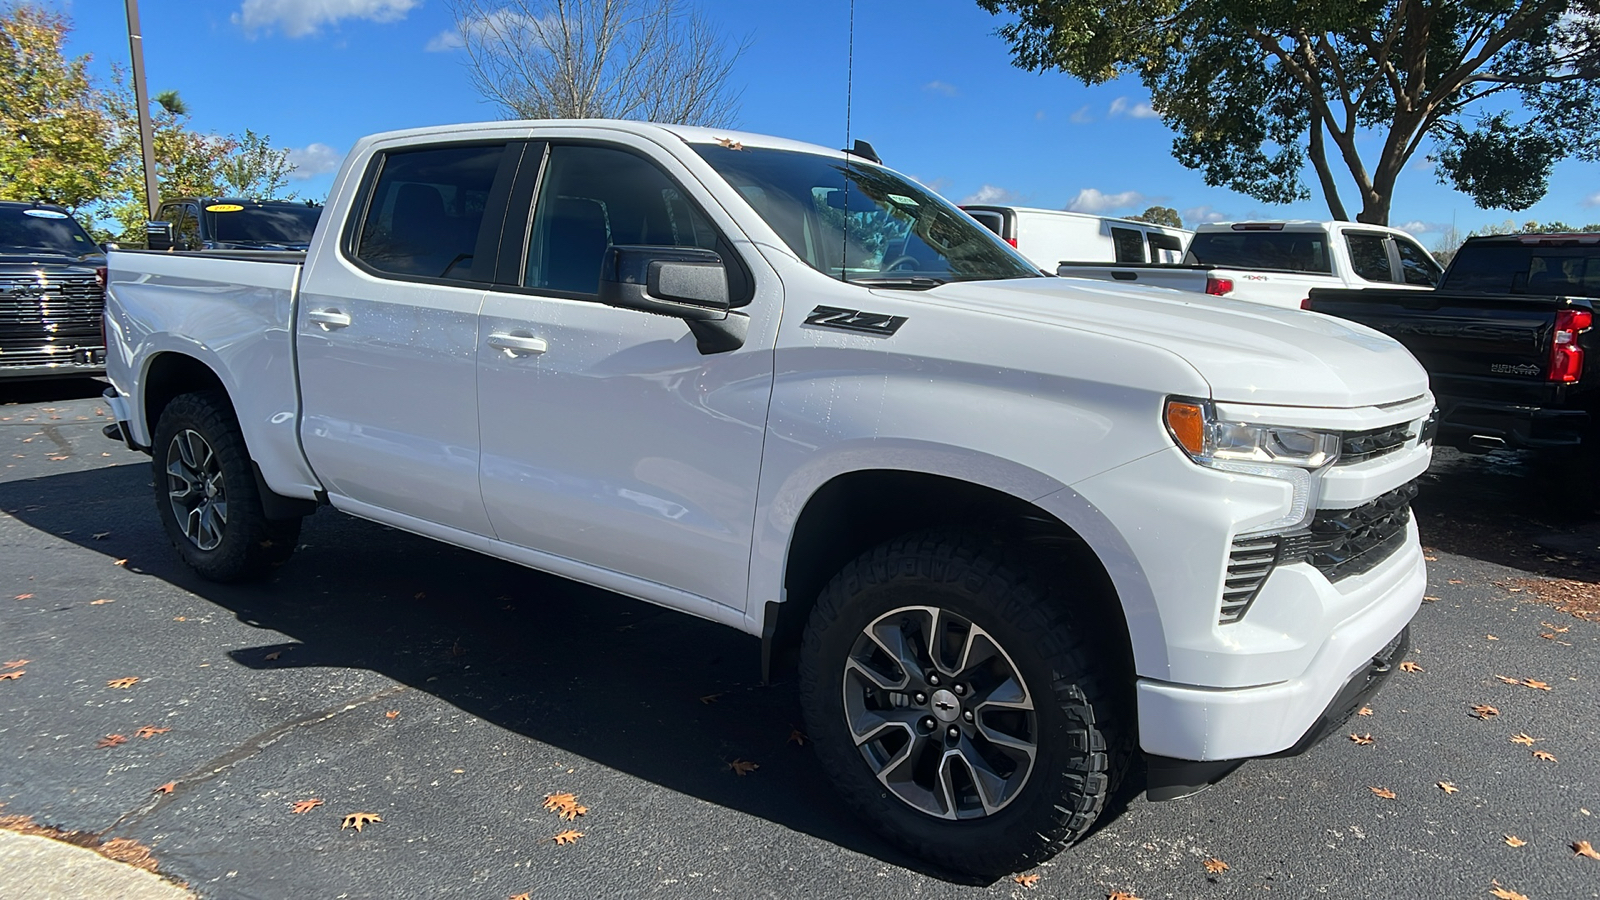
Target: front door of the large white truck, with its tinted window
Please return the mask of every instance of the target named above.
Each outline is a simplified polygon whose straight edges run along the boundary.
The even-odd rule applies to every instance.
[[[742,610],[776,279],[752,275],[731,223],[714,224],[648,144],[552,143],[546,154],[523,263],[485,298],[478,327],[494,533]],[[507,231],[515,219],[514,202]],[[613,243],[718,251],[733,303],[750,314],[744,348],[702,356],[682,320],[597,303]]]

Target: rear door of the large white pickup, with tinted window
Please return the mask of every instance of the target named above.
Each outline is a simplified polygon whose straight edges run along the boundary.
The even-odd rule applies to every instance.
[[[478,492],[478,307],[520,151],[379,151],[338,251],[325,242],[307,264],[301,434],[336,504],[491,533]]]

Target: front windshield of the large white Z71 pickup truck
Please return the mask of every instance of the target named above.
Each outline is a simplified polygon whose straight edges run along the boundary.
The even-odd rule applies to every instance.
[[[992,231],[886,168],[797,151],[694,149],[829,277],[914,288],[1040,277]]]

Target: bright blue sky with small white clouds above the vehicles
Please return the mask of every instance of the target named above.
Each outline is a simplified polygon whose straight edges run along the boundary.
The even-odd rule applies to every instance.
[[[691,0],[693,2],[693,0]],[[70,53],[109,75],[126,64],[123,3],[53,0],[74,19]],[[734,82],[739,127],[838,147],[845,141],[850,0],[699,0],[747,37]],[[445,0],[142,0],[152,93],[178,90],[197,128],[266,133],[301,163],[293,189],[326,194],[344,151],[373,131],[498,119],[472,88]],[[1171,131],[1136,80],[1086,88],[1011,66],[1000,19],[971,0],[858,0],[853,136],[957,202],[984,199],[1107,215],[1150,203],[1186,223],[1328,218],[1318,199],[1267,207],[1206,187],[1170,154]],[[1310,179],[1314,183],[1315,179]],[[1346,186],[1346,205],[1358,203]],[[1432,245],[1506,219],[1600,221],[1600,165],[1565,162],[1536,207],[1478,210],[1437,184],[1422,154],[1395,192],[1392,223]]]

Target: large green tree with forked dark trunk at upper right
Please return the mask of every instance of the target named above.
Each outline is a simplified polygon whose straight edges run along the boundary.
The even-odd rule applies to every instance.
[[[1342,163],[1357,219],[1387,224],[1395,179],[1429,141],[1440,179],[1483,208],[1528,208],[1555,162],[1600,160],[1600,0],[978,5],[1014,14],[1000,35],[1024,69],[1091,85],[1136,72],[1178,160],[1267,203],[1310,197],[1309,160],[1347,219]]]

